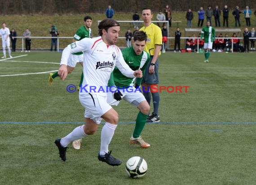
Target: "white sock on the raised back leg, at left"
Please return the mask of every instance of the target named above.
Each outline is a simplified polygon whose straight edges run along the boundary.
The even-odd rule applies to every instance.
[[[61,139],[61,145],[63,147],[66,147],[70,142],[87,136],[88,135],[84,133],[84,125],[79,126],[75,128],[71,133],[69,133],[66,137],[63,137]]]

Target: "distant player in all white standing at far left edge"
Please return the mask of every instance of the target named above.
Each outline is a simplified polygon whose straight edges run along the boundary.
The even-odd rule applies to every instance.
[[[3,53],[4,56],[1,58],[6,58],[6,51],[5,51],[5,47],[7,47],[8,53],[9,53],[9,57],[12,58],[11,56],[11,49],[10,49],[10,30],[8,27],[6,27],[6,23],[3,22],[2,24],[3,28],[0,29],[0,36],[2,37],[2,47],[3,47]]]

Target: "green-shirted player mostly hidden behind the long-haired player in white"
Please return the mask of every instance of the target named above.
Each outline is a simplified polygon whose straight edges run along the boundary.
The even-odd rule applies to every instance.
[[[90,28],[92,26],[92,20],[93,19],[90,16],[84,17],[84,26],[79,27],[79,29],[75,32],[75,35],[73,37],[73,42],[82,40],[84,38],[89,38],[89,37],[92,38],[92,30]],[[84,60],[83,52],[73,53],[68,59],[68,64],[67,64],[68,73],[72,73],[72,71],[75,69],[77,62],[79,62],[83,66],[83,60]],[[48,81],[50,85],[53,84],[53,79],[56,78],[57,76],[58,76],[58,72],[54,74],[53,73],[49,74]],[[84,75],[82,73],[79,87],[83,82],[83,78],[84,78]]]

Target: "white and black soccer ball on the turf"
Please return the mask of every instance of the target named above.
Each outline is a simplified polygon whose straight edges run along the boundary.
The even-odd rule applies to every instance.
[[[132,178],[140,178],[147,172],[148,165],[145,159],[135,156],[126,162],[126,172]]]

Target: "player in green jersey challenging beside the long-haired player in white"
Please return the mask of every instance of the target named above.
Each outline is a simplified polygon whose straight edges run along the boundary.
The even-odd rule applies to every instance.
[[[147,35],[144,31],[137,31],[133,36],[133,46],[122,50],[124,61],[132,70],[142,70],[143,75],[145,69],[150,61],[149,53],[144,50],[146,46]],[[135,81],[135,87],[133,87]],[[148,148],[150,144],[143,141],[141,138],[141,132],[146,124],[147,116],[150,110],[150,106],[146,101],[144,95],[139,89],[142,78],[128,78],[124,76],[117,68],[114,69],[110,76],[108,87],[111,88],[111,92],[107,93],[107,102],[109,105],[117,106],[121,99],[124,99],[128,103],[137,107],[140,111],[137,115],[134,132],[130,138],[131,144],[140,145],[141,148]],[[114,93],[112,93],[114,92]]]

